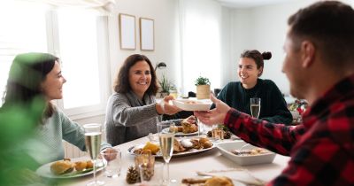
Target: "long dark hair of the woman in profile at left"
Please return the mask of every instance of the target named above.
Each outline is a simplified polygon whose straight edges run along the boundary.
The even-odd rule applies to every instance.
[[[53,69],[58,58],[48,53],[24,53],[17,55],[10,67],[4,91],[4,105],[25,105],[35,97],[43,97],[41,83]],[[54,106],[49,103],[44,117],[50,117]]]

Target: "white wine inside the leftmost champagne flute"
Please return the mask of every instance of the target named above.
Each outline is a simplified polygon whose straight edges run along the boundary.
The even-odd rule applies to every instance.
[[[86,149],[89,152],[91,159],[96,159],[101,146],[101,132],[85,133]]]

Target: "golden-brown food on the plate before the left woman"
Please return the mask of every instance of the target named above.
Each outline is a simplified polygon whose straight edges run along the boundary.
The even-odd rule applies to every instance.
[[[71,173],[73,170],[82,171],[93,167],[91,160],[72,162],[71,159],[63,159],[56,161],[50,165],[50,172],[52,174],[61,175]]]

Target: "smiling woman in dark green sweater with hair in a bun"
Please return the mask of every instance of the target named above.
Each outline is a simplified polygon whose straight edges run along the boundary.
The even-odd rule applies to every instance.
[[[227,83],[219,92],[218,98],[230,107],[250,114],[250,98],[259,97],[259,119],[290,124],[292,116],[281,90],[273,81],[259,79],[263,74],[264,60],[270,58],[272,53],[269,51],[260,53],[258,50],[244,50],[237,68],[240,81]]]

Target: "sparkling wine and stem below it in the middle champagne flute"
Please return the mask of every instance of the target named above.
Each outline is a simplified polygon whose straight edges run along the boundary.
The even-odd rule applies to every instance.
[[[174,134],[173,133],[166,133],[166,134],[159,134],[158,139],[160,141],[161,153],[162,157],[165,160],[165,166],[167,167],[167,176],[164,178],[164,185],[168,185],[170,182],[170,168],[168,163],[173,154],[173,140]]]

